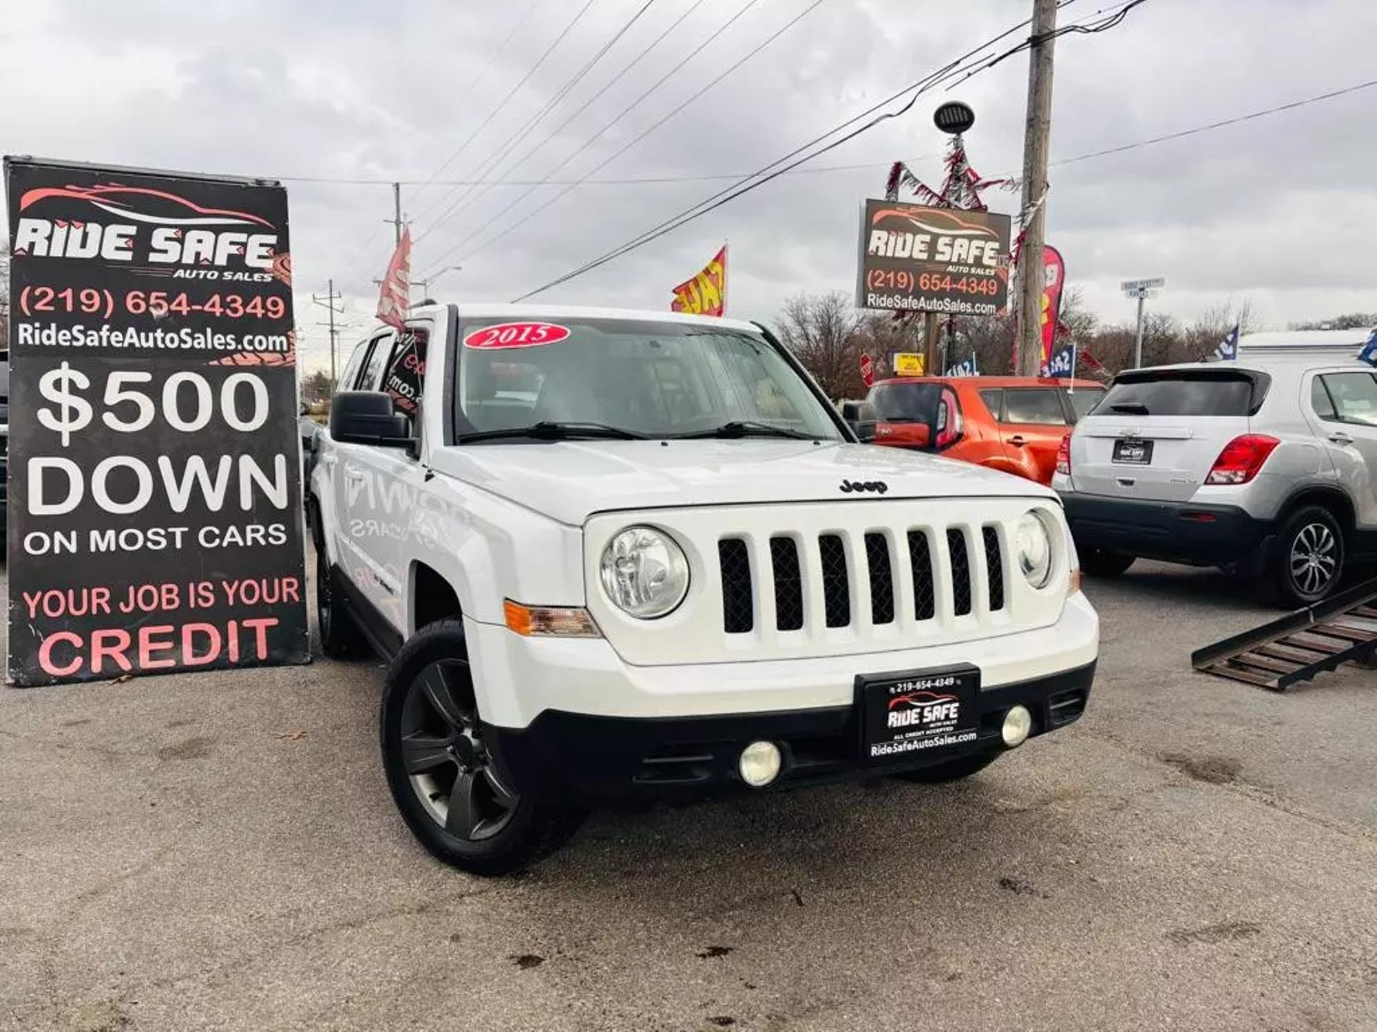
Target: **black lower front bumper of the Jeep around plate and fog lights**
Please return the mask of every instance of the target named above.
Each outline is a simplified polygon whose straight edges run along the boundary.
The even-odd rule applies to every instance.
[[[487,725],[485,742],[523,795],[559,801],[687,801],[749,791],[737,773],[741,750],[760,739],[784,754],[778,791],[931,766],[969,753],[1004,749],[1000,725],[1011,706],[1027,706],[1031,735],[1085,711],[1095,663],[982,689],[975,742],[910,754],[898,762],[863,760],[859,699],[848,706],[711,717],[596,717],[547,710],[527,728]]]

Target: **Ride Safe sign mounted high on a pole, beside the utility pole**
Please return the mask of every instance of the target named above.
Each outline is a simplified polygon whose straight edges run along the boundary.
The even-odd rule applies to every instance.
[[[1009,216],[866,201],[856,305],[997,315],[1009,300]]]

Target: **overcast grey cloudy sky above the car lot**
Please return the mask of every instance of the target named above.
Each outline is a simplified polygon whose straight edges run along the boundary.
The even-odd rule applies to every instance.
[[[1060,19],[1108,6],[1074,0]],[[1030,10],[1030,0],[7,0],[0,147],[281,178],[297,321],[307,363],[317,365],[328,354],[315,325],[325,312],[310,294],[333,277],[346,323],[368,325],[372,279],[391,249],[383,222],[391,180],[403,182],[413,274],[463,266],[430,293],[511,300]],[[1069,282],[1111,321],[1132,315],[1118,282],[1148,275],[1168,281],[1155,304],[1187,319],[1245,300],[1278,327],[1377,310],[1365,248],[1377,224],[1377,87],[1066,161],[1360,84],[1373,77],[1374,36],[1370,0],[1147,0],[1115,29],[1060,39],[1048,216]],[[989,176],[1016,173],[1026,84],[1019,54],[950,92],[934,91],[799,173],[538,300],[665,307],[669,289],[724,238],[733,315],[770,319],[792,293],[850,292],[858,205],[883,193],[887,164],[905,158],[924,179],[940,179],[934,107],[971,103],[972,164]],[[472,180],[482,184],[461,184]],[[996,211],[1018,206],[1013,194],[986,200]]]

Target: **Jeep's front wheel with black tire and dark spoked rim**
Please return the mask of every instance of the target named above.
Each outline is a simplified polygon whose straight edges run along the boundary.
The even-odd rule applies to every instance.
[[[379,736],[397,809],[432,856],[476,875],[521,871],[562,846],[582,812],[538,802],[483,747],[464,626],[417,632],[387,669]]]

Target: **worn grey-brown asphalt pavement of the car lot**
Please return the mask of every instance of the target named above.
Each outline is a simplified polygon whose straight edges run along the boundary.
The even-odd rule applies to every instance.
[[[1086,716],[956,786],[595,815],[431,860],[376,662],[0,689],[0,1028],[1373,1029],[1377,671],[1190,651],[1223,574],[1092,582]]]

